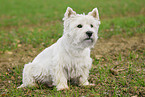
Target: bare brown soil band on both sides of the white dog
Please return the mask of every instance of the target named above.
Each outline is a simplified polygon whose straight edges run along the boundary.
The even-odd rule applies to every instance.
[[[6,71],[9,67],[24,65],[33,60],[42,49],[32,46],[22,45],[16,50],[0,52],[0,71]],[[116,56],[128,51],[141,51],[145,49],[145,34],[136,34],[134,36],[117,35],[111,38],[98,39],[95,48],[92,50],[93,57]]]

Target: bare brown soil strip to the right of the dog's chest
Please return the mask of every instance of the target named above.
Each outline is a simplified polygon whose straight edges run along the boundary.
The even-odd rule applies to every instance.
[[[98,39],[92,55],[101,55],[103,57],[121,52],[137,51],[145,49],[145,34],[136,34],[134,36],[116,35],[107,39]]]

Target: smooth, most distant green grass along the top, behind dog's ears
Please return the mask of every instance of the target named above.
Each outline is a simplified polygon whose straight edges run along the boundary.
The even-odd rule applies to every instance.
[[[101,18],[117,16],[132,16],[142,14],[145,1],[96,1],[96,0],[0,0],[0,26],[21,26],[28,24],[47,23],[61,20],[67,6],[74,8],[78,13],[88,13],[98,7]],[[128,14],[130,13],[130,14]]]

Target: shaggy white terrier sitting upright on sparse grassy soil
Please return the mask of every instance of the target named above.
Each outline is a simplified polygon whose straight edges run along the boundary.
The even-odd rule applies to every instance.
[[[68,89],[68,80],[92,85],[88,82],[92,64],[90,48],[98,38],[98,10],[94,8],[85,15],[76,14],[68,7],[63,20],[63,36],[24,66],[23,84],[18,88],[36,86],[38,81],[52,84],[57,90]]]

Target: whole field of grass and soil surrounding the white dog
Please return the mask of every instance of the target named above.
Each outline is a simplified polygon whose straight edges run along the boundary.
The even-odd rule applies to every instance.
[[[0,96],[145,97],[145,0],[0,0]],[[39,85],[16,89],[25,63],[62,36],[66,8],[97,7],[101,25],[92,49],[89,81],[57,91]]]

